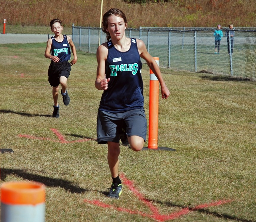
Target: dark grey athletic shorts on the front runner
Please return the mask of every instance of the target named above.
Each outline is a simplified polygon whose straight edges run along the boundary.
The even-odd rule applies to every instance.
[[[146,141],[147,119],[145,110],[130,110],[127,112],[106,112],[98,110],[97,116],[97,142],[106,144],[108,141],[119,143],[124,135],[140,136]]]

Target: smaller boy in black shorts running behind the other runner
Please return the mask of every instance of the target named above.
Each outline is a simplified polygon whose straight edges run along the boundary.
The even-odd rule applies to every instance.
[[[52,86],[53,96],[53,113],[52,117],[59,118],[58,94],[61,85],[61,94],[63,96],[64,105],[68,105],[70,97],[67,92],[67,81],[71,71],[71,65],[74,65],[77,61],[76,47],[70,36],[62,34],[63,26],[61,20],[55,18],[50,21],[50,27],[55,36],[52,36],[47,41],[44,57],[51,59],[51,63],[48,69],[48,81]],[[71,59],[72,50],[74,59],[69,63]]]

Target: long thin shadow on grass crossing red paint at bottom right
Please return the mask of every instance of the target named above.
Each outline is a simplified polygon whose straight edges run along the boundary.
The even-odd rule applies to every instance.
[[[182,205],[178,205],[178,204],[175,204],[175,203],[172,203],[172,202],[169,202],[169,201],[166,201],[166,202],[162,202],[162,201],[159,201],[159,200],[148,200],[148,201],[151,201],[151,202],[155,202],[157,204],[160,204],[160,205],[165,205],[167,207],[179,207],[179,208],[188,208],[189,210],[191,211],[194,211],[193,207],[187,207],[187,206],[182,206]],[[247,220],[247,219],[243,219],[243,218],[237,218],[237,217],[234,217],[234,216],[231,216],[231,215],[228,215],[228,214],[220,214],[216,211],[210,211],[208,209],[196,209],[196,211],[198,212],[201,212],[201,213],[205,213],[205,214],[208,214],[208,215],[213,215],[215,217],[218,217],[218,218],[225,218],[225,219],[228,219],[228,220],[233,220],[233,221],[241,221],[241,222],[256,222],[256,221],[252,221],[252,220]]]

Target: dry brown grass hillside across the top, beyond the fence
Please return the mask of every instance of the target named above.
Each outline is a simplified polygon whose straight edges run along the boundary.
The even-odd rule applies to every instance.
[[[122,0],[104,0],[103,13],[111,7],[123,10],[128,27],[254,27],[255,1],[199,0],[171,1],[161,4],[128,4]],[[99,27],[101,0],[6,0],[1,2],[0,15],[7,25],[48,26],[55,17],[64,25]],[[48,9],[48,10],[47,10]]]

